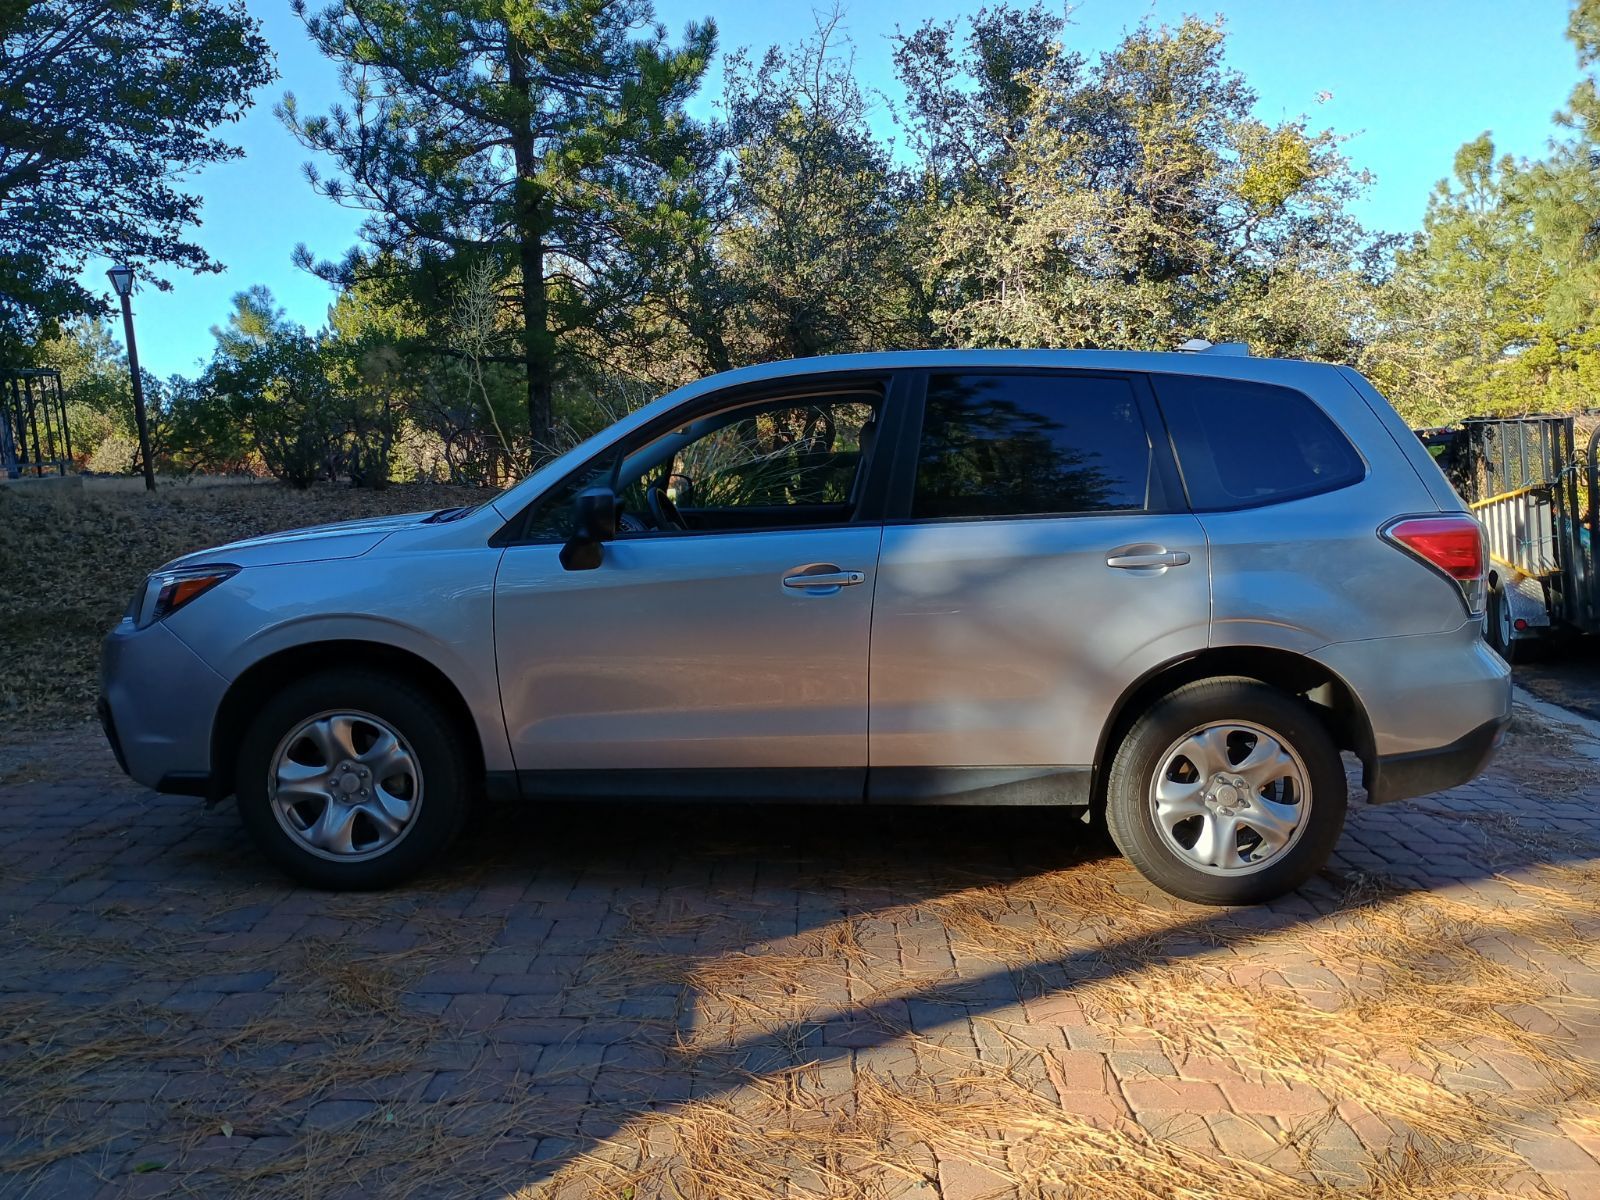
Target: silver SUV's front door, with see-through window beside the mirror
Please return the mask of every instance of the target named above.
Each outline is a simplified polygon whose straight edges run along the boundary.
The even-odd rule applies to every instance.
[[[722,422],[706,437],[693,421],[642,434],[621,466],[594,464],[555,490],[496,579],[501,696],[525,792],[862,800],[883,534],[862,480],[882,398],[867,387],[795,400],[810,406],[800,411],[763,397],[733,419],[701,419]],[[763,440],[808,418],[816,427],[779,453]],[[664,459],[658,435],[677,442]],[[597,568],[563,570],[565,506],[608,472],[632,528]],[[667,480],[683,531],[648,528],[646,485]]]

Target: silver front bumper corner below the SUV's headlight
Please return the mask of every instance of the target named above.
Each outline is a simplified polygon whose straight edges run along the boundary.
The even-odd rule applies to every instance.
[[[162,792],[208,795],[211,725],[227,680],[157,622],[123,621],[101,650],[101,726],[117,765]]]

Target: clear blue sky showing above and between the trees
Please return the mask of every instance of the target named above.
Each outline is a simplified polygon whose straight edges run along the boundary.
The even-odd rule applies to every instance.
[[[896,94],[888,43],[896,26],[958,18],[976,6],[851,0],[845,26],[859,75]],[[334,67],[312,50],[288,0],[250,0],[250,10],[264,22],[282,78],[226,131],[246,157],[195,181],[205,197],[198,238],[227,270],[176,275],[173,291],[134,298],[139,358],[163,376],[195,371],[210,355],[210,328],[226,317],[229,298],[254,283],[272,288],[298,322],[322,325],[331,291],[296,269],[290,254],[306,242],[318,258],[338,258],[357,240],[360,214],[310,190],[301,174],[306,154],[272,114],[285,91],[306,112],[326,109],[338,99]],[[1346,150],[1376,176],[1358,213],[1378,229],[1416,229],[1456,147],[1485,130],[1502,150],[1541,154],[1554,133],[1550,117],[1578,78],[1565,38],[1566,0],[1082,0],[1069,42],[1093,53],[1141,18],[1171,22],[1216,11],[1227,21],[1230,66],[1259,96],[1258,115],[1309,114],[1317,125],[1355,134]],[[723,50],[794,43],[813,29],[810,6],[773,0],[656,0],[656,13],[674,35],[685,22],[712,16]],[[696,110],[709,114],[720,90],[718,61]],[[1325,91],[1331,99],[1318,102]],[[886,131],[886,115],[880,117]]]

